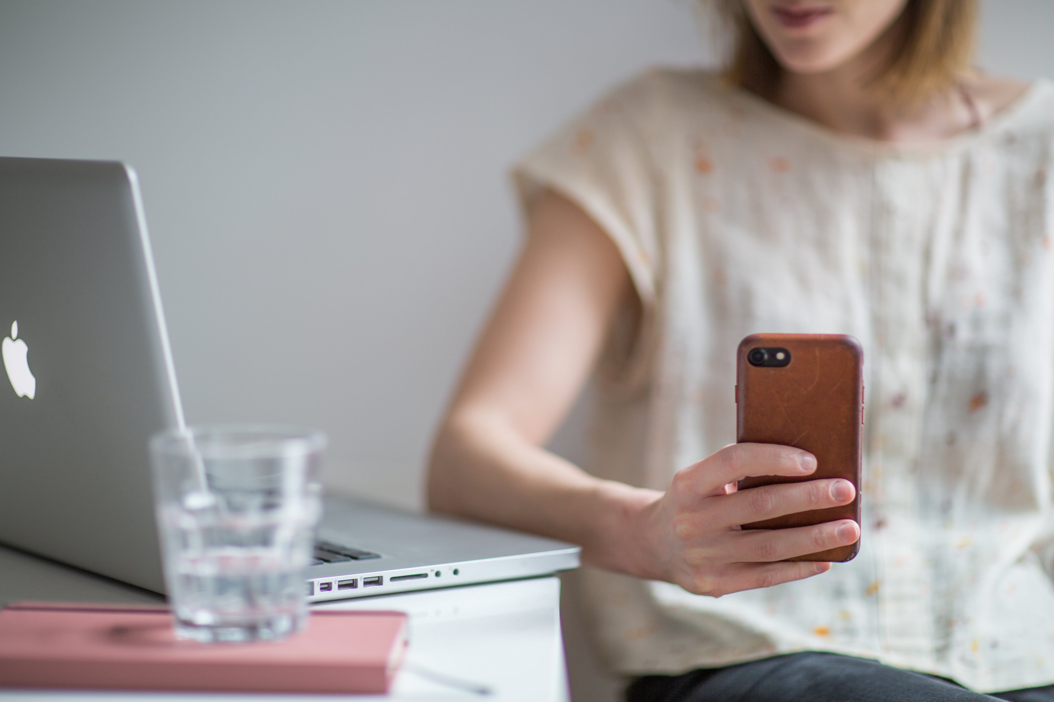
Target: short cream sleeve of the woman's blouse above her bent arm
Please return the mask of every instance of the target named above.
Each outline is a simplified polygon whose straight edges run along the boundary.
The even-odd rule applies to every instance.
[[[524,212],[551,189],[589,215],[618,246],[650,317],[660,256],[646,96],[645,79],[616,89],[521,159],[512,180]]]

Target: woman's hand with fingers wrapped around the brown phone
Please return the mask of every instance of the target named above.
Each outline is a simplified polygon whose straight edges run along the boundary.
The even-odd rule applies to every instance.
[[[641,578],[666,580],[715,597],[827,570],[828,562],[802,562],[801,557],[855,542],[860,527],[853,520],[785,529],[740,528],[855,499],[853,486],[844,480],[814,480],[816,465],[812,454],[798,448],[741,443],[679,470],[669,488],[659,499],[648,499],[643,509],[612,513],[620,515],[624,527],[618,540],[622,553],[637,557],[629,567],[622,567]],[[736,489],[739,481],[756,476],[807,482]],[[601,562],[597,556],[593,559]]]

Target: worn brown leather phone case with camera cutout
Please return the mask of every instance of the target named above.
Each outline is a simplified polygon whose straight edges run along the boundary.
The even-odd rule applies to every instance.
[[[863,350],[856,339],[835,334],[755,334],[743,339],[736,359],[736,403],[737,443],[796,446],[817,461],[811,476],[746,478],[739,481],[739,489],[817,478],[844,478],[857,488],[856,499],[841,507],[743,524],[744,529],[808,526],[837,519],[860,523]],[[859,549],[857,541],[787,560],[850,561]]]

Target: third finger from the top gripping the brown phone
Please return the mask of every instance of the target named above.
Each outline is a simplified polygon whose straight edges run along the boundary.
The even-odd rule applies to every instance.
[[[860,525],[852,519],[786,529],[728,531],[724,548],[731,562],[782,561],[828,548],[847,546],[860,538]]]

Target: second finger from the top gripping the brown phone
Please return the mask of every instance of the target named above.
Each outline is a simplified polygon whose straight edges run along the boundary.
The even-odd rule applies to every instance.
[[[706,521],[710,525],[739,526],[798,512],[837,507],[848,504],[854,498],[853,483],[840,478],[762,485],[715,500],[707,510]]]

